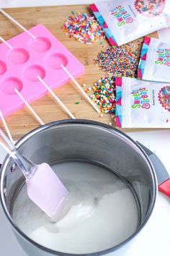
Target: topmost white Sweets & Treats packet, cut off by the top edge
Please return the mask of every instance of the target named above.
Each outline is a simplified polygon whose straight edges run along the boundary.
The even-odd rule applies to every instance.
[[[170,26],[170,0],[99,1],[91,10],[112,46]]]

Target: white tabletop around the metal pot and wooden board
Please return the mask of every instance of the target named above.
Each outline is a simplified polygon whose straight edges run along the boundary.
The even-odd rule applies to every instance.
[[[0,7],[30,7],[61,4],[89,4],[89,0],[0,0]],[[170,28],[159,31],[161,40],[170,43]],[[134,140],[151,149],[166,166],[170,174],[170,129],[153,132],[128,133]],[[5,156],[0,147],[0,162]],[[145,228],[138,234],[130,249],[122,256],[170,255],[170,199],[158,193],[156,206]],[[0,206],[0,256],[26,256],[15,239]],[[34,255],[30,255],[34,256]]]

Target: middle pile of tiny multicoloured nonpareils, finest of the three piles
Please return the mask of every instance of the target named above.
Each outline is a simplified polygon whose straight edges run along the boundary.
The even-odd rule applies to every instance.
[[[142,41],[138,40],[138,46],[141,48]],[[124,46],[109,46],[99,52],[94,64],[98,64],[107,74],[115,77],[137,77],[138,62],[140,51],[133,49],[133,44]]]

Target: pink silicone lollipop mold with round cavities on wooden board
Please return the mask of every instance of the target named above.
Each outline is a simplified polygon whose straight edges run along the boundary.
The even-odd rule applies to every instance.
[[[0,44],[0,109],[4,116],[24,107],[14,88],[29,103],[48,93],[37,75],[56,89],[70,81],[61,64],[75,78],[84,73],[83,64],[46,27],[37,25],[30,32],[36,39],[24,32],[8,40],[12,49]]]

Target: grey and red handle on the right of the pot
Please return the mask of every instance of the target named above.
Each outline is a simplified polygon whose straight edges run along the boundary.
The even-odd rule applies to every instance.
[[[142,148],[145,153],[148,155],[148,158],[150,158],[151,163],[153,164],[153,167],[156,171],[156,177],[158,180],[158,190],[168,197],[170,197],[170,178],[169,173],[166,170],[164,164],[161,162],[161,160],[158,158],[158,156],[153,153],[151,150],[146,148],[143,144],[136,141],[138,145],[140,145],[140,148]]]

